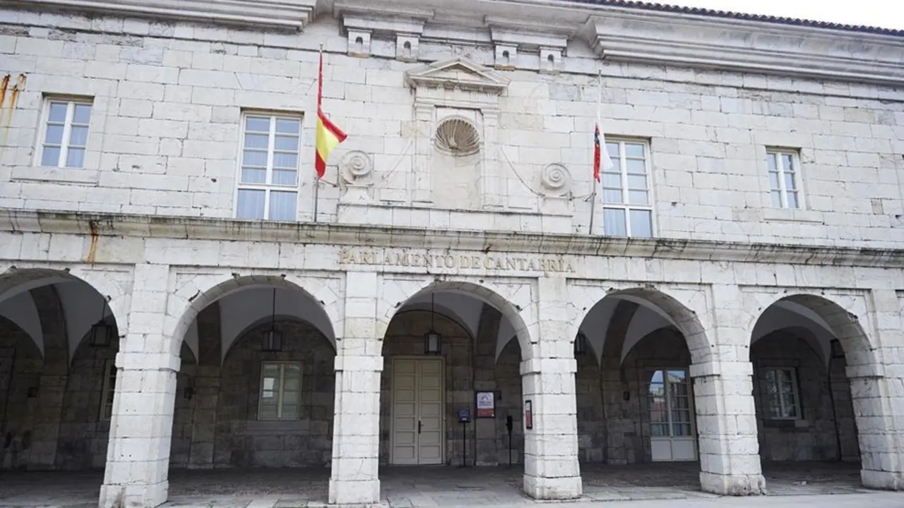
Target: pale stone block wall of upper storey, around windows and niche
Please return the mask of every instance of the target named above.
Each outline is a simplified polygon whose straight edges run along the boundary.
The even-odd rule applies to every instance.
[[[602,65],[582,40],[570,42],[560,73],[500,71],[511,82],[499,98],[491,149],[504,175],[499,199],[523,217],[474,210],[474,190],[433,189],[442,210],[407,210],[416,127],[404,72],[424,61],[467,54],[494,65],[494,48],[461,39],[424,42],[419,61],[348,56],[336,20],[321,16],[303,33],[267,33],[169,21],[5,9],[4,72],[27,77],[6,126],[0,206],[157,215],[231,217],[242,111],[306,114],[302,161],[313,160],[316,48],[325,43],[324,108],[349,138],[331,156],[372,160],[364,205],[344,203],[343,220],[452,229],[587,231],[592,132],[603,72],[607,138],[648,139],[655,236],[699,240],[900,248],[899,193],[904,101],[899,89],[824,83],[734,71],[673,69],[630,62]],[[460,35],[460,34],[459,34]],[[390,41],[374,42],[387,48]],[[390,53],[393,57],[395,52]],[[45,94],[94,100],[85,168],[35,167],[34,140]],[[887,99],[882,99],[887,98]],[[767,146],[800,150],[805,207],[771,205]],[[432,153],[432,152],[431,152]],[[730,162],[730,164],[729,164]],[[425,163],[434,171],[473,168]],[[552,221],[537,193],[541,172],[561,164],[571,193]],[[434,167],[436,166],[436,167]],[[300,168],[297,218],[313,215],[313,174]],[[437,185],[445,180],[436,179]],[[341,186],[340,186],[341,187]],[[344,189],[325,186],[321,220],[334,221]],[[458,197],[456,197],[458,196]],[[456,210],[452,212],[452,210]],[[461,212],[459,212],[461,211]],[[473,213],[468,213],[471,211]],[[508,217],[508,218],[505,218]],[[552,227],[551,224],[556,224]],[[564,224],[564,225],[562,225]],[[598,226],[599,227],[599,226]]]

